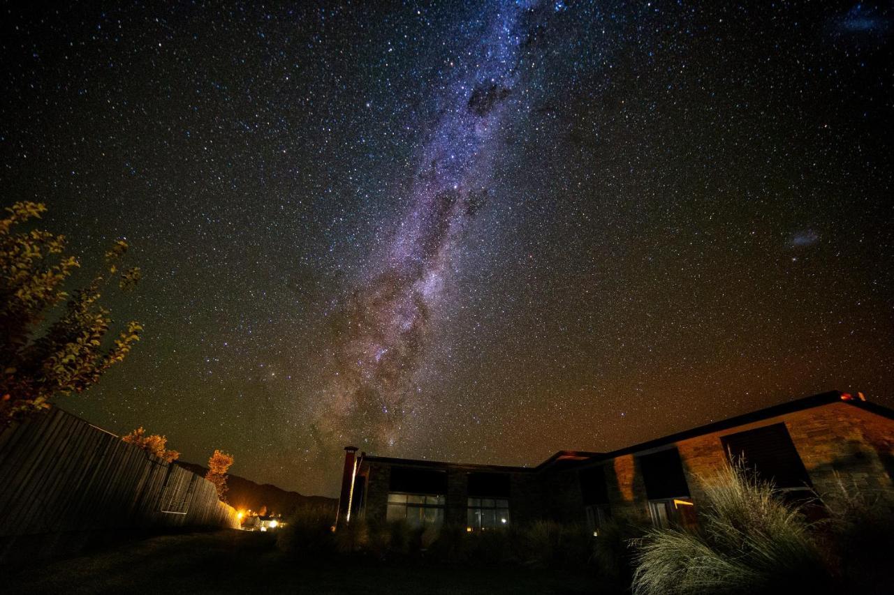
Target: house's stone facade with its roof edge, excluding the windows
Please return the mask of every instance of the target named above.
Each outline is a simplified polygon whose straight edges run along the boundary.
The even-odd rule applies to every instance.
[[[841,494],[842,486],[852,492],[885,492],[894,497],[894,412],[848,401],[847,395],[824,393],[614,453],[563,451],[534,468],[367,457],[360,467],[365,482],[361,506],[367,520],[383,521],[392,466],[438,469],[447,476],[444,519],[451,524],[465,524],[469,473],[505,473],[509,477],[513,524],[540,519],[583,524],[586,512],[578,472],[603,465],[611,513],[644,518],[649,515],[649,500],[640,457],[677,448],[689,497],[697,507],[704,499],[704,479],[728,464],[721,439],[778,423],[785,424],[810,482],[823,501],[831,503]]]

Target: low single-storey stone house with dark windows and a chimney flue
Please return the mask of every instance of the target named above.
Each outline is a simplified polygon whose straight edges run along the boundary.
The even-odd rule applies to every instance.
[[[744,457],[787,496],[839,482],[894,495],[894,411],[839,391],[767,407],[613,452],[561,450],[536,467],[375,457],[345,448],[339,523],[398,519],[468,531],[539,519],[598,530],[611,515],[695,523],[700,477]]]

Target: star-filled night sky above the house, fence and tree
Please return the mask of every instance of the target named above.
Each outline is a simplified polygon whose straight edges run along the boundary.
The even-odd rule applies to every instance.
[[[721,5],[723,4],[723,5]],[[60,404],[333,495],[822,390],[894,405],[894,12],[5,4],[0,201],[146,331]]]

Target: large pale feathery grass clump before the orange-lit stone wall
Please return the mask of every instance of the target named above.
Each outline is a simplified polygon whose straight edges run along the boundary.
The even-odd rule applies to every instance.
[[[633,592],[832,592],[811,526],[772,483],[741,463],[706,482],[697,532],[652,530],[638,541]]]

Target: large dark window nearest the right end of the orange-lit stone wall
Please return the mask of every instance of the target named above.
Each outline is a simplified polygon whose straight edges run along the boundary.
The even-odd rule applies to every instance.
[[[810,486],[810,477],[785,423],[723,436],[721,443],[727,457],[744,457],[748,467],[756,468],[762,479],[772,481],[777,488]]]

